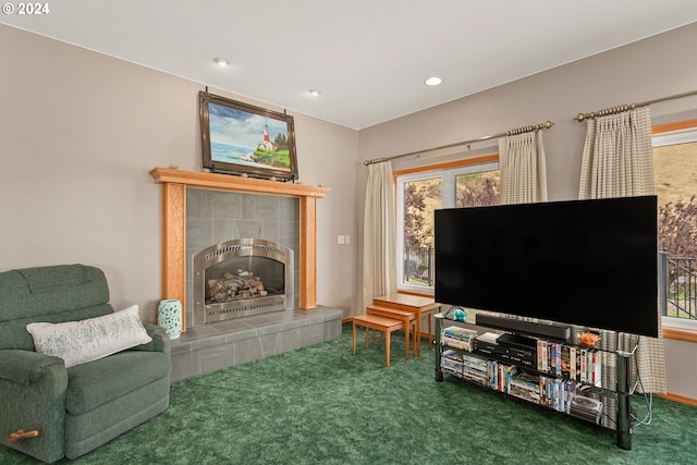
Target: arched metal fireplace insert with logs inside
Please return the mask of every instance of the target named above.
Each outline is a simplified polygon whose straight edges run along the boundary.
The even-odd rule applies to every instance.
[[[194,326],[293,308],[293,250],[240,238],[193,256]]]

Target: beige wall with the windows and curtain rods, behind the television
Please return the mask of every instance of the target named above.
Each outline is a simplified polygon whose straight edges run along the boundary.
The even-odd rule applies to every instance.
[[[697,23],[369,127],[360,132],[360,158],[406,154],[551,120],[554,126],[545,133],[549,197],[575,199],[586,134],[585,123],[573,120],[576,114],[697,90],[695,44]],[[650,109],[655,124],[697,118],[697,96]],[[393,169],[496,152],[494,139],[474,144],[472,151],[403,158]],[[365,185],[365,173],[362,181]],[[669,392],[697,399],[697,370],[685,369],[695,357],[697,344],[667,343]]]

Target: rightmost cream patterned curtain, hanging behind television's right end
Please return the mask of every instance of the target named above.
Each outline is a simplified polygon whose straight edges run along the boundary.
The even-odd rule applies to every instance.
[[[578,197],[585,199],[652,194],[653,149],[649,108],[588,120]],[[636,365],[641,380],[639,390],[665,393],[665,356],[658,308],[657,305],[659,336],[639,339]],[[615,342],[612,333],[603,334],[602,340],[608,344]],[[635,342],[636,339],[621,338],[621,348],[629,351],[632,341]],[[614,377],[614,372],[609,370],[603,376]]]

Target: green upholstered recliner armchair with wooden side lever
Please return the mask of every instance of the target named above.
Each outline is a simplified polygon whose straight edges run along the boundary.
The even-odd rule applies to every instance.
[[[76,458],[167,409],[171,362],[163,329],[145,323],[149,342],[68,368],[68,358],[37,351],[27,331],[35,322],[71,327],[121,315],[98,268],[0,273],[1,444],[46,463]],[[80,338],[68,343],[84,351]]]

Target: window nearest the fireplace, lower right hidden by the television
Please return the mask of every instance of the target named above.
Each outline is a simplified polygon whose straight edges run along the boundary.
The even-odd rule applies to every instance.
[[[433,211],[499,204],[498,156],[395,172],[399,289],[433,292]]]

